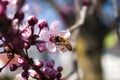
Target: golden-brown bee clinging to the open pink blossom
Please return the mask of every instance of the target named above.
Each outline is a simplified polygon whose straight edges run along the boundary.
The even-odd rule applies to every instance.
[[[66,47],[69,51],[72,51],[72,45],[70,44],[70,41],[65,39],[63,36],[55,36],[54,42],[56,45],[61,45],[62,49]]]

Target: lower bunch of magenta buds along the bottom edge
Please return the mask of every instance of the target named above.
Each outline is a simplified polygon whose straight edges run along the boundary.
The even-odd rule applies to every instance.
[[[45,63],[41,60],[36,60],[33,63],[28,63],[24,58],[19,57],[18,64],[11,64],[10,70],[15,71],[18,67],[22,67],[23,72],[16,75],[17,80],[28,80],[29,77],[37,80],[62,80],[62,66],[58,66],[55,69],[54,65],[54,60],[49,60]]]

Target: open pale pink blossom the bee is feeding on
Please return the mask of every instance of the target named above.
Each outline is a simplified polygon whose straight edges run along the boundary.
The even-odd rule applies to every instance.
[[[58,29],[58,21],[53,22],[50,25],[50,28],[43,28],[43,30],[40,33],[40,39],[44,40],[46,42],[46,47],[49,51],[55,52],[57,50],[61,51],[62,46],[56,45],[54,42],[55,36],[63,36],[64,38],[70,37],[69,31],[62,31],[60,32]],[[63,51],[66,51],[65,48]]]

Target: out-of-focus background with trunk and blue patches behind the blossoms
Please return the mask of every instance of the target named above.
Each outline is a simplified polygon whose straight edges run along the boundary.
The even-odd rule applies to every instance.
[[[66,30],[80,18],[79,12],[87,6],[85,21],[71,32],[72,52],[39,53],[35,46],[29,49],[34,59],[53,59],[62,65],[66,80],[120,80],[120,0],[9,0],[7,15],[13,17],[17,1],[21,1],[26,17],[59,21],[59,29]],[[22,4],[23,2],[23,4]],[[85,13],[83,13],[85,14]],[[37,31],[37,29],[36,29]],[[7,57],[0,55],[0,67]],[[16,62],[14,59],[12,62]],[[9,67],[0,73],[0,80],[13,80],[20,72]],[[31,79],[32,80],[32,79]]]

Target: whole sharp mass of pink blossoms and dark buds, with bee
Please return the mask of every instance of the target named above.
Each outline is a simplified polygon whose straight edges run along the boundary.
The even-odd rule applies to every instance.
[[[38,20],[34,15],[28,16],[24,24],[25,14],[22,10],[17,10],[12,18],[8,18],[6,15],[8,4],[8,1],[0,0],[0,47],[4,48],[0,54],[6,54],[8,57],[8,62],[0,68],[0,72],[15,58],[15,55],[19,55],[18,63],[10,64],[10,71],[22,67],[23,72],[16,76],[20,78],[19,80],[28,80],[29,77],[37,80],[61,80],[61,66],[55,69],[54,60],[36,62],[29,57],[27,50],[34,45],[41,53],[46,50],[71,51],[70,32],[60,32],[58,21],[49,27],[46,20]],[[38,33],[35,33],[35,27],[38,27]]]

